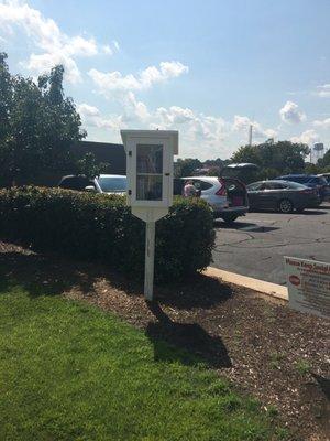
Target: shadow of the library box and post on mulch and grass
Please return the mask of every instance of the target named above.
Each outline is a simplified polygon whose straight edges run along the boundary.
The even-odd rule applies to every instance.
[[[146,302],[157,322],[150,322],[146,335],[154,346],[155,362],[178,361],[186,365],[195,365],[202,359],[213,368],[231,367],[232,363],[227,347],[220,337],[208,334],[197,323],[176,323],[162,310],[157,302]],[[182,351],[170,351],[169,347]]]

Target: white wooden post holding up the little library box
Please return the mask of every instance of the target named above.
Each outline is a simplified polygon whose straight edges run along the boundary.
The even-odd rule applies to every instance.
[[[155,229],[155,222],[145,223],[144,297],[150,301],[153,300],[154,290]]]

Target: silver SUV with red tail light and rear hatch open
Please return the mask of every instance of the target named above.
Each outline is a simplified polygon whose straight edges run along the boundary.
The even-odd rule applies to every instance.
[[[174,185],[175,194],[182,194],[186,181],[193,181],[195,187],[200,190],[200,197],[210,205],[215,218],[222,218],[226,223],[232,223],[239,216],[244,216],[249,212],[246,187],[234,178],[182,178],[180,190],[178,191],[179,185]]]

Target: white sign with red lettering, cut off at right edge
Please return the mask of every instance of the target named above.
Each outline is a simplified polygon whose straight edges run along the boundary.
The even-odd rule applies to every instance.
[[[289,306],[330,319],[330,263],[285,257]]]

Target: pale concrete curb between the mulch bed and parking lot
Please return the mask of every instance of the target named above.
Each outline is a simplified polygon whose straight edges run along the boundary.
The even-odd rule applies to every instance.
[[[238,284],[252,289],[254,291],[262,292],[263,294],[270,295],[275,299],[288,301],[287,288],[282,284],[266,282],[265,280],[253,279],[252,277],[237,275],[234,272],[224,271],[222,269],[208,267],[204,273],[206,276],[217,277],[224,282]]]

